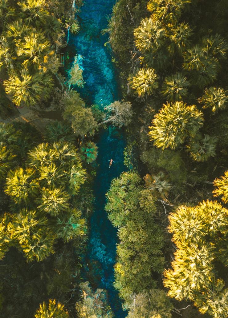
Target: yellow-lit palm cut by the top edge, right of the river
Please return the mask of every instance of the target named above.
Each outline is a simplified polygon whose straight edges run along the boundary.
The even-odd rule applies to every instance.
[[[152,12],[155,21],[177,24],[185,3],[189,2],[189,0],[150,0],[147,3],[147,10]]]

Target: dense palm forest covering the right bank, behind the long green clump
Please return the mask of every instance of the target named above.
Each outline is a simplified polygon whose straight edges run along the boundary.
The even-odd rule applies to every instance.
[[[225,317],[228,304],[227,210],[211,193],[217,177],[213,194],[227,204],[227,8],[227,0],[119,0],[106,30],[136,113],[126,149],[134,145],[131,153],[143,164],[130,168],[144,175],[156,222],[168,226],[177,245],[165,234],[173,269],[165,270],[164,285],[171,298],[191,300],[214,318]],[[130,298],[129,317],[169,314],[151,313],[145,290]]]

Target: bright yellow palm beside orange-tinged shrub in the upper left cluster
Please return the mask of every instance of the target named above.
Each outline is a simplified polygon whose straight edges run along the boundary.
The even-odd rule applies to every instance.
[[[31,64],[40,65],[40,58],[50,51],[50,43],[45,39],[43,33],[30,33],[21,41],[16,43],[17,55],[25,58],[22,63],[27,67]]]

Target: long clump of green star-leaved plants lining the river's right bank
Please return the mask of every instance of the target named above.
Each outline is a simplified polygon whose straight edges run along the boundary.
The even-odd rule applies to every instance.
[[[105,210],[113,226],[118,228],[120,240],[114,266],[114,287],[126,301],[132,293],[148,288],[152,273],[161,273],[164,266],[161,256],[163,233],[153,218],[155,202],[149,191],[142,191],[139,183],[138,174],[124,172],[112,180],[106,193]],[[141,196],[143,200],[140,200]]]

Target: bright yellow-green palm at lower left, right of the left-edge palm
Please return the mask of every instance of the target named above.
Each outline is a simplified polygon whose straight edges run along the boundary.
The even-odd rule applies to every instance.
[[[47,224],[47,218],[40,217],[35,210],[22,209],[12,217],[11,237],[17,239],[20,245],[37,240]]]

